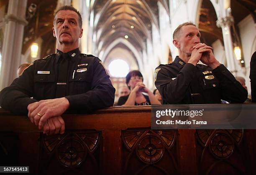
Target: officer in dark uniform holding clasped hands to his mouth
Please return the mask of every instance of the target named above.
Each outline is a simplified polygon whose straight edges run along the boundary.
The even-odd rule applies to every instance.
[[[247,91],[212,53],[200,43],[200,32],[193,23],[179,25],[173,34],[179,50],[174,62],[159,65],[155,85],[164,104],[242,103]],[[201,60],[205,65],[197,64]]]

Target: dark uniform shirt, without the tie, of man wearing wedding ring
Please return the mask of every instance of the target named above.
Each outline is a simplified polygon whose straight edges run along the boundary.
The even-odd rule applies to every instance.
[[[27,106],[39,100],[54,99],[58,79],[57,65],[62,52],[57,50],[44,59],[34,61],[9,87],[0,92],[0,105],[15,114],[27,115]],[[66,98],[68,112],[91,112],[113,105],[115,88],[100,59],[80,53],[68,52]],[[77,72],[84,69],[84,72]],[[31,98],[33,97],[33,98]]]

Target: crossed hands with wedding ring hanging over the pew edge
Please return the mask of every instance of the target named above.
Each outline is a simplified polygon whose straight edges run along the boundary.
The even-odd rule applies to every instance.
[[[67,98],[40,100],[28,105],[28,117],[45,134],[64,133],[65,122],[61,115],[69,108]]]

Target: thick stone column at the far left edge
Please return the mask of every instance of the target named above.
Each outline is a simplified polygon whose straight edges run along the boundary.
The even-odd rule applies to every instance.
[[[5,31],[0,73],[0,90],[9,86],[17,77],[21,60],[27,0],[9,0],[8,13],[4,18]]]

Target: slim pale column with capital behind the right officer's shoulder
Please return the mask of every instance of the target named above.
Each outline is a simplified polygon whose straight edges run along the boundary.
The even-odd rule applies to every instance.
[[[230,27],[234,23],[234,19],[232,16],[227,16],[224,18],[219,18],[216,21],[216,25],[222,29],[223,33],[223,41],[225,47],[225,55],[227,59],[227,68],[230,72],[236,74],[236,71],[240,68],[236,57],[234,55],[234,46],[232,41],[232,34]]]

